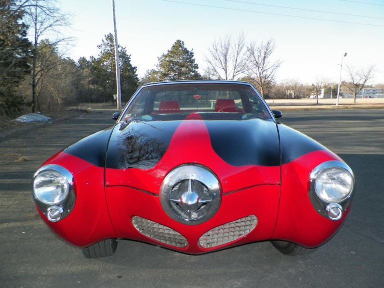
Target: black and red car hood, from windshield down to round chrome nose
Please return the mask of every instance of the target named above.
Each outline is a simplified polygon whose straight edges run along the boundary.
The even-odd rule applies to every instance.
[[[157,194],[174,168],[211,170],[223,193],[280,183],[280,146],[270,120],[130,120],[117,124],[106,155],[106,186],[130,186]]]

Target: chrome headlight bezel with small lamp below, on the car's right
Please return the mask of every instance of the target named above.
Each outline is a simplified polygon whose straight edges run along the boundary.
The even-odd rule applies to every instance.
[[[346,187],[345,193],[335,193],[334,195],[327,195],[327,193],[329,193],[329,190],[330,190],[329,187],[328,189],[324,189],[324,191],[319,191],[319,186],[321,185],[318,185],[316,181],[320,181],[319,179],[324,175],[326,175],[327,173],[329,175],[332,175],[332,173],[336,173],[336,174],[339,173],[338,176],[343,174],[343,176],[346,177],[345,183],[348,184],[349,186]],[[329,178],[332,178],[332,177],[329,177]],[[342,179],[342,180],[345,180],[345,179]],[[337,184],[329,183],[329,186],[332,186],[332,185],[337,185]],[[331,161],[323,162],[317,165],[309,175],[309,198],[311,200],[312,205],[320,215],[334,221],[342,218],[341,217],[342,213],[344,213],[344,211],[348,208],[352,200],[354,188],[355,188],[355,175],[352,169],[342,161],[331,160]],[[340,190],[341,189],[339,189],[339,191]],[[340,217],[335,217],[335,215],[333,215],[331,212],[335,210],[334,209],[335,205],[337,205],[337,207],[340,207],[340,213],[341,213]]]

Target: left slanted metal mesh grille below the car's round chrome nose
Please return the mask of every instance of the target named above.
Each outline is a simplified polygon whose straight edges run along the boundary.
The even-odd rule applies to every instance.
[[[167,226],[139,216],[132,217],[132,224],[141,234],[158,242],[177,248],[188,246],[188,241],[182,234]]]

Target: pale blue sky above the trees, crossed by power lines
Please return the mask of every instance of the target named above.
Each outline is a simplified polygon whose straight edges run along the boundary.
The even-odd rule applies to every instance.
[[[112,0],[58,2],[72,14],[72,29],[64,33],[76,38],[67,56],[97,56],[97,45],[113,32]],[[345,65],[376,65],[372,83],[384,83],[384,0],[115,0],[115,7],[119,44],[131,54],[139,77],[177,39],[193,49],[203,73],[212,41],[243,30],[248,41],[275,40],[273,57],[283,61],[277,82],[338,82],[338,64],[348,52],[343,78]]]

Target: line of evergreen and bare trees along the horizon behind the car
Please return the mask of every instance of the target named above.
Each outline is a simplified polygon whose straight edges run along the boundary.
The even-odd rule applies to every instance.
[[[65,57],[63,50],[73,40],[59,33],[69,25],[56,0],[1,0],[0,3],[0,116],[18,116],[26,109],[51,112],[81,102],[113,101],[116,94],[114,38],[101,40],[99,55]],[[30,35],[29,38],[27,35]],[[308,97],[330,85],[316,79],[312,85],[291,79],[277,84],[275,75],[282,60],[275,59],[272,38],[246,41],[243,31],[214,39],[205,55],[204,74],[198,72],[193,49],[177,39],[142,79],[131,63],[126,47],[119,45],[123,101],[139,85],[155,81],[189,79],[243,80],[252,83],[265,98]],[[356,95],[367,87],[375,68],[348,66],[350,80],[344,86]],[[324,84],[326,83],[326,84]]]

